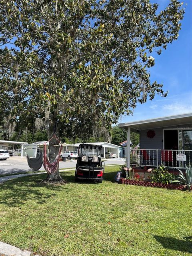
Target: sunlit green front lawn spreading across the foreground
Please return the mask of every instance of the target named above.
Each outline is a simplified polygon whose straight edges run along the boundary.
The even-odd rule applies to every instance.
[[[44,256],[191,255],[191,194],[116,184],[40,184],[45,174],[0,185],[0,241]],[[66,238],[65,238],[66,237]]]

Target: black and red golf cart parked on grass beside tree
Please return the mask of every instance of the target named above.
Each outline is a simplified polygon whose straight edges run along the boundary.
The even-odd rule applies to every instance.
[[[102,146],[94,144],[80,144],[75,170],[75,180],[103,181],[105,163],[101,161]],[[102,166],[103,165],[103,166]]]

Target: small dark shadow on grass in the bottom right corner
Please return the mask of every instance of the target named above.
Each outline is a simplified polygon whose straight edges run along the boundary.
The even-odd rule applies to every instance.
[[[154,238],[157,242],[161,243],[164,248],[181,252],[192,252],[192,243],[190,241],[156,235],[154,235]]]

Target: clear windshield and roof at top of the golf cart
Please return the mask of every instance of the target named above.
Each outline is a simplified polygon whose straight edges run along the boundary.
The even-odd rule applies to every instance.
[[[100,156],[102,146],[98,145],[87,145],[87,144],[80,144],[78,148],[78,157],[81,156]]]

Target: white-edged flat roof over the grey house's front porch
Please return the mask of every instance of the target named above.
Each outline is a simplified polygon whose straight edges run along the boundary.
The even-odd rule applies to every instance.
[[[163,128],[169,126],[179,126],[182,124],[192,123],[192,113],[180,114],[175,116],[165,116],[160,118],[146,119],[134,122],[127,122],[118,124],[122,129],[128,130],[128,127],[132,131],[136,130],[146,130],[151,128]]]

